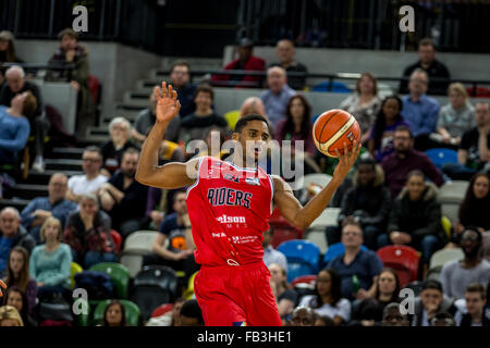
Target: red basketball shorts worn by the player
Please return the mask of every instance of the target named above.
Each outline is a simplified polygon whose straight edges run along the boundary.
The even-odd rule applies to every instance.
[[[264,262],[245,266],[203,266],[194,293],[207,326],[281,326]]]

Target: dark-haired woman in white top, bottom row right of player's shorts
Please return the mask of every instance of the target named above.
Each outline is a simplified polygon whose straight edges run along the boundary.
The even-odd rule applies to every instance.
[[[342,278],[335,270],[321,270],[315,285],[316,294],[304,296],[299,306],[333,319],[335,326],[347,323],[351,320],[351,302],[342,297],[341,283]]]

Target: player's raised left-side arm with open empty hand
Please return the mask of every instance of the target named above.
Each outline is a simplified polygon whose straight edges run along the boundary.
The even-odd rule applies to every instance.
[[[166,83],[162,83],[161,86],[161,88],[155,87],[155,95],[158,100],[157,121],[143,144],[136,181],[148,186],[172,189],[195,182],[197,160],[191,160],[187,163],[172,162],[158,166],[158,152],[163,135],[170,121],[179,114],[181,109],[181,103],[176,99],[176,91],[173,90],[172,86],[167,87]]]

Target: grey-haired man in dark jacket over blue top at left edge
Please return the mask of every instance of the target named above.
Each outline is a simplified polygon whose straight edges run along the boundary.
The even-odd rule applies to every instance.
[[[36,246],[36,240],[21,225],[19,210],[13,207],[0,211],[0,274],[7,269],[10,250],[16,246],[23,247],[28,253]]]

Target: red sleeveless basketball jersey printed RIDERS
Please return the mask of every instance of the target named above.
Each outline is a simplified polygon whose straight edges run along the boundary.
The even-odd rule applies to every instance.
[[[261,169],[243,169],[204,157],[187,189],[187,211],[203,265],[261,262],[262,233],[272,212],[272,178]]]

